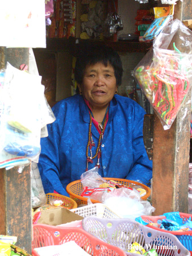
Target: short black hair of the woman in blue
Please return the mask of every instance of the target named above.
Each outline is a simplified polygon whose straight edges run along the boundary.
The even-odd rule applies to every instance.
[[[102,63],[106,67],[110,64],[114,68],[116,85],[119,86],[122,83],[123,67],[119,54],[105,45],[91,45],[77,55],[74,78],[78,84],[82,84],[86,66],[96,63]]]

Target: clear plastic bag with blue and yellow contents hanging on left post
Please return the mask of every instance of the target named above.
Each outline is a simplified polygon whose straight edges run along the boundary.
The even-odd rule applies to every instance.
[[[4,73],[0,86],[0,168],[28,164],[28,159],[38,162],[41,128],[54,120],[44,101],[41,76],[20,71],[10,63]]]

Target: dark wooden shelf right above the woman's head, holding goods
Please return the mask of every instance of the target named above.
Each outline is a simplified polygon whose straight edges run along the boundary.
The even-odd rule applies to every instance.
[[[147,52],[152,47],[152,43],[145,42],[128,42],[128,41],[97,41],[73,38],[47,38],[47,50],[49,51],[70,51],[72,55],[76,56],[79,48],[84,48],[92,43],[106,44],[119,52]]]

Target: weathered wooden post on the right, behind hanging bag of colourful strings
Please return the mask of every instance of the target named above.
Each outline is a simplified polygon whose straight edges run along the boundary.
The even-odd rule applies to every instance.
[[[191,0],[178,1],[174,18],[185,20],[191,13]],[[177,46],[176,42],[176,46]],[[164,130],[155,115],[153,144],[154,215],[188,212],[191,90],[169,130]]]

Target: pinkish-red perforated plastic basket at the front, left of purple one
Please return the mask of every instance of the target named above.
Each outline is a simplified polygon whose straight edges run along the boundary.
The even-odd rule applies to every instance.
[[[75,241],[78,246],[93,256],[125,256],[123,250],[108,245],[83,229],[63,228],[45,224],[33,225],[32,255],[39,256],[34,248]]]

